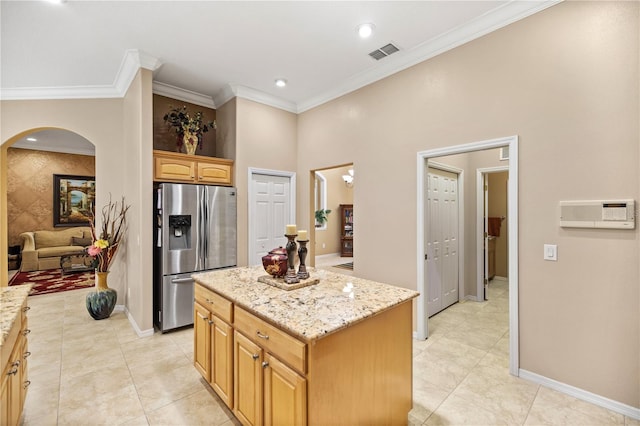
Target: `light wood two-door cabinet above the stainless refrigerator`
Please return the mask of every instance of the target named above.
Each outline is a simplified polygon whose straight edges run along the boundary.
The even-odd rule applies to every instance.
[[[156,182],[233,186],[233,160],[156,150],[153,164]]]

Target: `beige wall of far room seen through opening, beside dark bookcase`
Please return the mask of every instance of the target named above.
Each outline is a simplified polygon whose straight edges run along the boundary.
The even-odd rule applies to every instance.
[[[340,204],[353,204],[353,187],[347,188],[342,179],[342,175],[346,175],[350,168],[352,166],[320,170],[327,180],[327,209],[331,210],[331,213],[327,216],[329,221],[326,229],[315,230],[316,256],[340,253]]]

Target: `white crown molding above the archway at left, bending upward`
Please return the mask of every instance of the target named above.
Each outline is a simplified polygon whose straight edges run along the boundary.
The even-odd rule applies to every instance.
[[[93,99],[122,98],[127,92],[138,69],[155,71],[162,63],[151,55],[136,49],[127,50],[120,63],[113,85],[24,87],[0,90],[0,99],[8,101],[36,99]]]

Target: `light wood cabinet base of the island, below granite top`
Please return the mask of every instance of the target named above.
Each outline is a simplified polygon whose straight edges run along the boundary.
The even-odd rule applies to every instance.
[[[195,295],[196,320],[204,322],[198,312],[206,316],[199,304],[214,312],[214,323],[218,314],[229,320],[222,334],[233,336],[233,359],[214,361],[209,374],[215,364],[220,376],[223,365],[226,373],[233,371],[232,403],[225,403],[242,424],[406,424],[412,406],[410,300],[304,342],[200,283]],[[195,327],[196,335],[205,333]],[[206,339],[195,338],[201,374],[206,368],[198,367],[198,359],[207,355],[198,345]],[[211,349],[210,358],[218,351]]]

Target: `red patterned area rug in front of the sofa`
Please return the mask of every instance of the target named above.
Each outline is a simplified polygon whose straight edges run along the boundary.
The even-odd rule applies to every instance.
[[[94,286],[93,272],[76,272],[60,275],[60,269],[46,271],[20,272],[9,282],[9,285],[31,283],[33,288],[29,296],[77,290]]]

